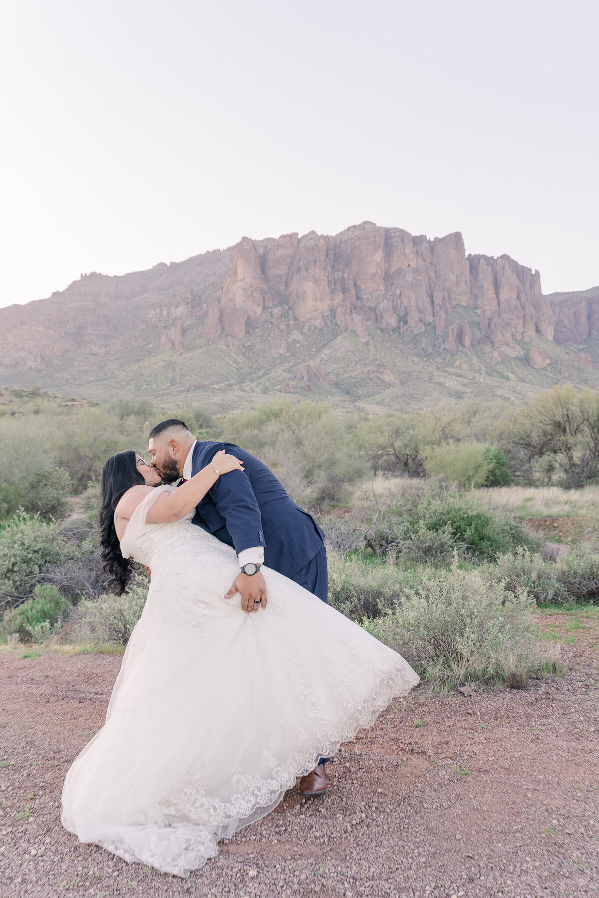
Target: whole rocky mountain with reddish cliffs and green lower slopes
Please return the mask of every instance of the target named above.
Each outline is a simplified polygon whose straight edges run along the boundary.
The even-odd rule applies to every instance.
[[[489,388],[517,399],[564,379],[596,385],[597,337],[599,288],[544,296],[538,272],[467,256],[460,233],[364,222],[88,274],[0,309],[0,383],[219,408],[281,392],[364,409]]]

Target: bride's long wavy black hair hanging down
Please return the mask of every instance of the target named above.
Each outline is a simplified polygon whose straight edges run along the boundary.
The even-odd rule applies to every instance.
[[[100,543],[104,570],[110,575],[108,588],[117,595],[127,589],[135,563],[120,553],[119,537],[114,526],[114,509],[128,489],[145,480],[137,471],[136,453],[132,449],[112,455],[101,471]]]

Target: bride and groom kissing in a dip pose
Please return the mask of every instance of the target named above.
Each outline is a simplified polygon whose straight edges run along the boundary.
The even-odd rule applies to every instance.
[[[324,534],[266,465],[177,418],[150,431],[149,452],[102,471],[111,587],[126,591],[135,562],[151,580],[62,819],[81,841],[188,876],[297,777],[324,794],[339,744],[418,675],[327,604]]]

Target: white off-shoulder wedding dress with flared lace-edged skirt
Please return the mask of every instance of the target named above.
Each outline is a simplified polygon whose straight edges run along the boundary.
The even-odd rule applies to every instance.
[[[217,841],[268,814],[295,778],[370,726],[418,675],[391,648],[263,567],[268,603],[225,599],[233,549],[190,523],[121,541],[152,570],[106,723],[66,775],[66,829],[125,858],[188,876]]]

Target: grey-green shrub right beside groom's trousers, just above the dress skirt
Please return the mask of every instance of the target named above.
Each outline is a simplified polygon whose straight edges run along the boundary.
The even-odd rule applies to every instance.
[[[365,564],[356,557],[329,553],[329,603],[354,621],[393,608],[418,581],[418,573],[393,564]]]

